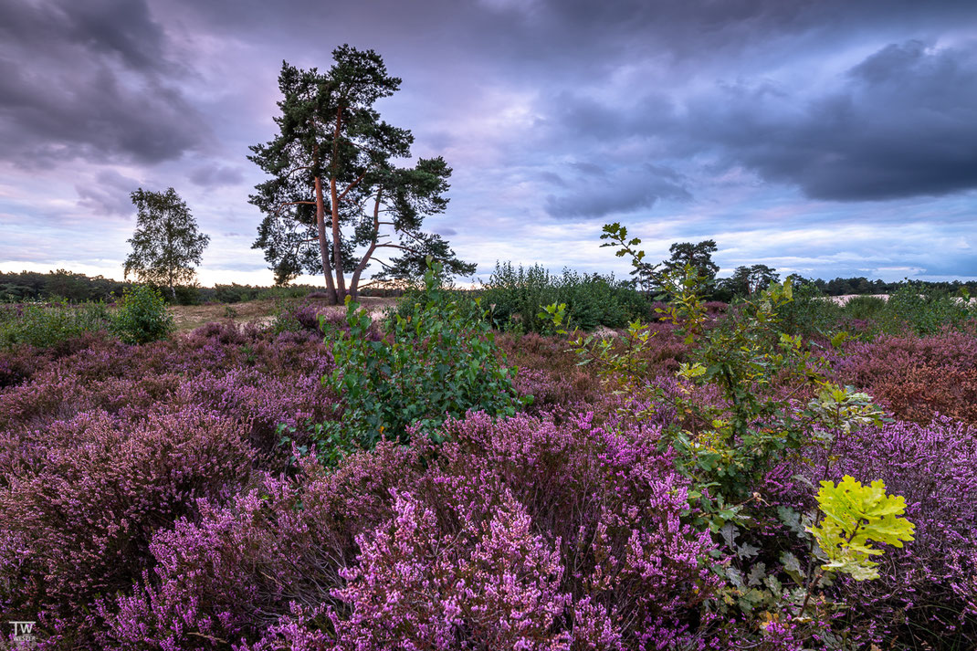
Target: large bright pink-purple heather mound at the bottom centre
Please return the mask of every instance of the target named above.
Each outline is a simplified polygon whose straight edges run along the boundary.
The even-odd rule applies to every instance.
[[[154,569],[102,607],[106,648],[704,644],[713,545],[682,522],[686,483],[656,429],[486,414],[446,426],[436,455],[418,440],[333,472],[306,458],[296,480],[157,533]]]

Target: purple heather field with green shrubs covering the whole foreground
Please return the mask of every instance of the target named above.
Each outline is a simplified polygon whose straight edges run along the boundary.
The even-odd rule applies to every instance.
[[[0,611],[58,649],[971,648],[972,330],[832,345],[789,283],[694,275],[600,335],[432,287],[0,350]],[[850,496],[886,514],[833,540]]]

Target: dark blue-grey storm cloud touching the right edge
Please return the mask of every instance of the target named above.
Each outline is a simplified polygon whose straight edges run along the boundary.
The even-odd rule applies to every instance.
[[[812,100],[731,85],[694,102],[675,140],[819,199],[977,188],[977,48],[889,45]]]

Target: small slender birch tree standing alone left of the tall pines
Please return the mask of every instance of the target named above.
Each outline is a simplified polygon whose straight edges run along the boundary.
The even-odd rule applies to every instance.
[[[168,287],[174,301],[176,285],[189,284],[200,264],[210,238],[196,230],[187,202],[173,188],[153,193],[142,188],[132,194],[138,211],[136,232],[129,243],[132,252],[125,261],[125,275],[140,282]]]

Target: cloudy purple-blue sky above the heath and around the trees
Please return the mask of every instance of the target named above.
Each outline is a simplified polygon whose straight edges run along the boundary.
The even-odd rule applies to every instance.
[[[720,276],[977,279],[973,0],[4,0],[0,271],[121,278],[130,193],[173,187],[200,282],[271,284],[248,147],[343,43],[403,79],[376,109],[452,167],[425,226],[479,279],[626,276],[610,222]]]

